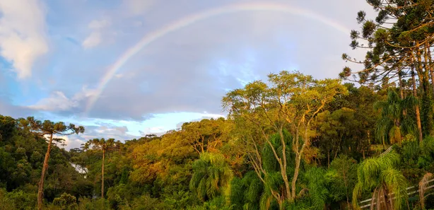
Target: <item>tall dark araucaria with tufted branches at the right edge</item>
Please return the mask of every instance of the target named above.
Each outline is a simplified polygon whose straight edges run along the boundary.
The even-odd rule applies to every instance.
[[[364,69],[353,71],[345,67],[340,76],[347,78],[356,75],[360,83],[382,83],[399,81],[401,99],[403,78],[412,77],[413,94],[420,98],[421,107],[415,105],[418,139],[422,141],[433,131],[433,87],[434,70],[431,47],[434,38],[433,1],[367,0],[378,11],[375,21],[368,20],[364,11],[358,12],[357,21],[362,30],[351,32],[351,47],[367,48],[365,59],[358,61],[343,54],[348,62],[364,64]],[[359,42],[362,40],[361,42]],[[365,42],[366,45],[363,45]],[[416,87],[416,79],[419,88]]]

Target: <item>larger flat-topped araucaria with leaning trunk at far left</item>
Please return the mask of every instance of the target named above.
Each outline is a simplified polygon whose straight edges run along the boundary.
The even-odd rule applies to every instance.
[[[44,180],[45,172],[48,168],[49,152],[51,151],[53,135],[71,135],[71,134],[81,134],[84,132],[84,127],[76,127],[75,124],[66,125],[64,122],[51,122],[45,120],[44,122],[35,119],[34,117],[27,117],[27,119],[18,119],[18,126],[22,129],[26,129],[37,136],[47,136],[48,135],[48,146],[47,152],[45,153],[44,164],[42,165],[42,174],[39,181],[39,186],[37,189],[37,209],[42,209],[42,199],[44,197]]]

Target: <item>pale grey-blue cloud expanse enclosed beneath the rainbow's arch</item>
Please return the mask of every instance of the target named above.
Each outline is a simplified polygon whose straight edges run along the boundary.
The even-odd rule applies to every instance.
[[[318,74],[318,66],[324,66],[321,72],[332,69],[316,57],[332,46],[319,39],[298,40],[300,37],[290,30],[293,23],[283,20],[291,16],[280,16],[269,23],[262,21],[263,30],[257,33],[255,27],[259,26],[250,21],[254,14],[243,14],[203,21],[167,35],[125,66],[122,73],[134,76],[113,79],[94,109],[129,117],[173,111],[216,113],[222,110],[225,89],[240,88],[237,78],[253,81],[270,72],[293,70],[290,68],[296,65],[307,74]],[[283,31],[282,25],[288,31]],[[339,54],[336,63],[340,62]],[[132,69],[132,65],[141,67]],[[338,71],[336,68],[327,74],[335,76]]]

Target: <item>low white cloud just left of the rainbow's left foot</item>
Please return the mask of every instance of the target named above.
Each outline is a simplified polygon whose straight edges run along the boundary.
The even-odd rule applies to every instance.
[[[89,90],[83,87],[82,90],[71,98],[68,98],[61,91],[54,91],[48,98],[42,98],[35,105],[28,106],[33,110],[43,111],[67,111],[80,105],[88,99],[90,96],[95,95],[95,90]]]

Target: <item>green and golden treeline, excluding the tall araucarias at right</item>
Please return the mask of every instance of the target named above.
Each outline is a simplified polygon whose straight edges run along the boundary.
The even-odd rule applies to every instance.
[[[397,92],[282,71],[228,93],[227,119],[70,151],[53,140],[41,208],[354,209],[372,197],[392,209],[433,208],[434,183],[424,181],[434,178],[434,138],[418,142],[417,129],[402,129],[397,139],[382,127],[396,117],[390,107],[404,107]],[[62,130],[0,117],[0,209],[37,208],[44,124]],[[413,185],[425,192],[407,196]]]

